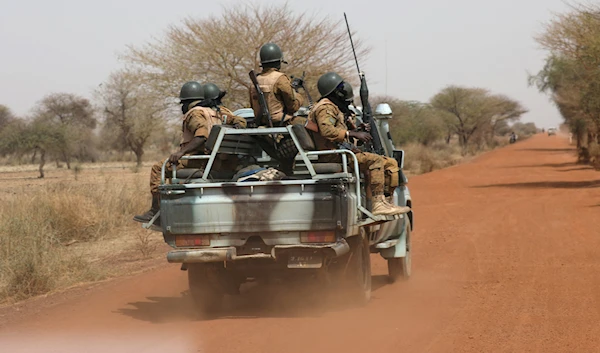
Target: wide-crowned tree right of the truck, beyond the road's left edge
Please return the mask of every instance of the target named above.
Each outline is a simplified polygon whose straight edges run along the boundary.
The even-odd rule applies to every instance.
[[[431,99],[431,105],[445,113],[447,126],[467,147],[475,133],[489,129],[502,120],[517,120],[527,112],[519,102],[502,95],[490,95],[482,88],[448,86]]]

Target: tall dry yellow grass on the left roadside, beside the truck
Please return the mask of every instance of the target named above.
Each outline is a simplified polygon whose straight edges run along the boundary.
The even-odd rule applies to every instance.
[[[148,207],[147,173],[128,169],[0,174],[0,302],[110,276],[122,252],[152,255],[160,237],[131,221]]]

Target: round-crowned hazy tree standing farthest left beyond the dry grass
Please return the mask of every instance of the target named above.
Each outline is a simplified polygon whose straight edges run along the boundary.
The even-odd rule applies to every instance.
[[[38,122],[38,128],[62,131],[65,143],[59,155],[69,169],[73,155],[81,159],[93,147],[90,141],[96,118],[92,105],[83,97],[69,93],[50,94],[37,104],[34,120]]]

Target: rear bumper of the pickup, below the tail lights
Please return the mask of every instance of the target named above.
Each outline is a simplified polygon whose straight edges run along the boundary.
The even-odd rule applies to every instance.
[[[345,239],[331,244],[297,244],[297,245],[275,245],[270,254],[260,253],[252,255],[237,255],[236,248],[206,248],[206,249],[178,249],[167,254],[170,263],[207,263],[237,261],[245,259],[273,259],[285,252],[316,250],[322,251],[329,257],[342,256],[350,251],[350,246]]]

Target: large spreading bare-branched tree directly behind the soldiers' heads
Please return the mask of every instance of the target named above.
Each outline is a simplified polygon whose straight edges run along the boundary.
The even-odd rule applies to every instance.
[[[358,38],[357,55],[368,53]],[[213,82],[228,94],[233,108],[248,106],[248,72],[259,68],[258,52],[277,43],[289,65],[284,71],[301,75],[316,97],[316,81],[336,71],[355,82],[354,57],[346,27],[337,20],[311,13],[294,13],[287,4],[241,4],[223,8],[218,17],[187,18],[165,35],[142,47],[130,47],[126,61],[143,73],[143,81],[159,95],[175,97],[184,82]]]

